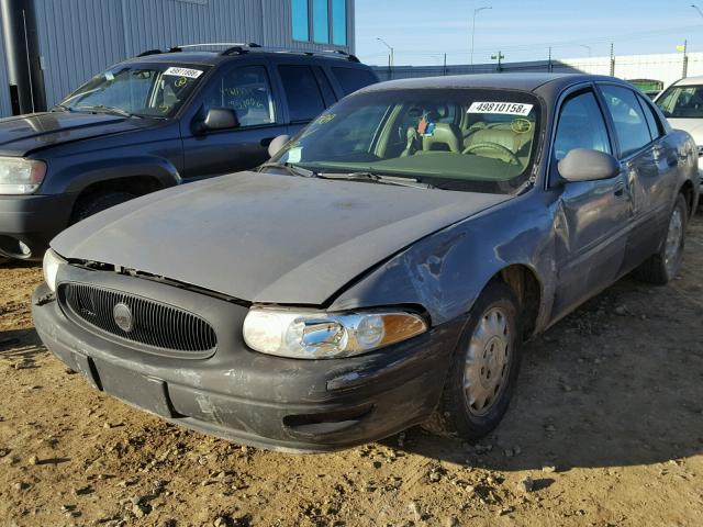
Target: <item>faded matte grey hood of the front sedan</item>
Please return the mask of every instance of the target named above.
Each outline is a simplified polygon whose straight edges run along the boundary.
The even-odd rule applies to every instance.
[[[320,305],[416,239],[509,198],[239,172],[115,206],[52,247],[245,301]]]

